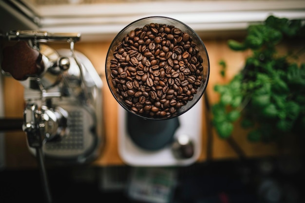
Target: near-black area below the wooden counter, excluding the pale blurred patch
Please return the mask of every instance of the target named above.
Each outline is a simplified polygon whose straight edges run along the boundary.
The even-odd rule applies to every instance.
[[[102,171],[116,171],[101,176]],[[47,167],[54,203],[139,202],[127,193],[130,166]],[[304,203],[302,157],[224,160],[176,167],[172,203]],[[123,183],[105,189],[103,178]],[[0,171],[0,203],[44,202],[38,169]]]

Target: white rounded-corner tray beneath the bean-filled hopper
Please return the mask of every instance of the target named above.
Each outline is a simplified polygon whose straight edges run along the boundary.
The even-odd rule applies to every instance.
[[[170,146],[150,151],[135,145],[126,127],[127,111],[118,105],[118,151],[123,162],[130,166],[188,166],[194,163],[202,147],[202,106],[203,98],[193,108],[178,117],[180,126],[175,131],[174,137],[188,134],[194,144],[194,154],[188,159],[176,159]]]

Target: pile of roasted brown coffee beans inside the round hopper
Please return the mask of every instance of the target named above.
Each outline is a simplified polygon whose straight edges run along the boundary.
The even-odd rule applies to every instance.
[[[130,31],[113,56],[111,82],[119,99],[145,117],[172,117],[204,79],[196,43],[172,25],[150,23]]]

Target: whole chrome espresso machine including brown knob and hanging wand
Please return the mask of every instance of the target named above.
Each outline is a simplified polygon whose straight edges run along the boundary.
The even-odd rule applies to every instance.
[[[74,45],[79,33],[10,31],[4,41],[1,72],[24,87],[22,129],[37,158],[46,202],[51,203],[45,162],[92,162],[104,146],[102,80]],[[7,42],[7,43],[6,43]],[[68,43],[54,50],[45,43]]]

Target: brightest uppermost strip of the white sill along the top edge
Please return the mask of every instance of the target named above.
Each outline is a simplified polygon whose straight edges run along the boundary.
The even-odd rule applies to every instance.
[[[302,10],[304,0],[194,0],[39,6],[42,17],[129,16],[158,13],[217,11]]]

